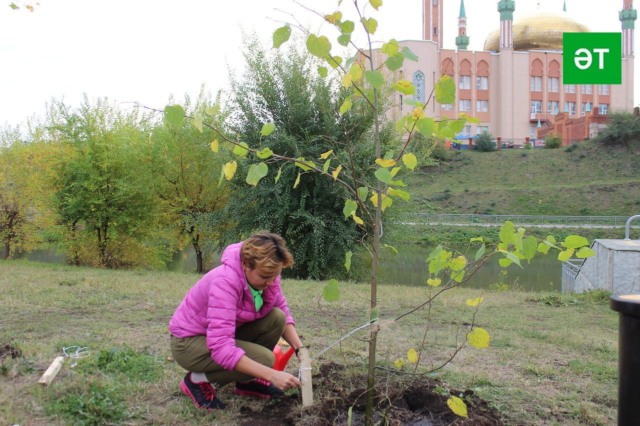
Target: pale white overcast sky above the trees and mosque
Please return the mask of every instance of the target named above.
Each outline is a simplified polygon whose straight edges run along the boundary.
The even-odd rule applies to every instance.
[[[384,0],[377,40],[420,39],[423,0]],[[8,4],[10,1],[5,0]],[[15,3],[23,5],[16,1]],[[17,125],[43,114],[51,97],[77,106],[83,93],[113,102],[138,101],[164,107],[168,97],[197,95],[204,83],[225,89],[228,67],[241,70],[242,29],[255,31],[271,46],[271,34],[291,21],[312,18],[293,0],[39,0],[35,12],[0,7],[0,124]],[[337,0],[300,0],[321,13],[331,13]],[[363,0],[360,0],[363,3]],[[460,0],[442,0],[444,47],[455,48]],[[620,32],[622,0],[567,0],[568,15],[591,31]],[[28,3],[27,3],[28,4]],[[483,49],[486,36],[499,26],[496,0],[465,0],[469,49]],[[516,0],[515,17],[540,12],[563,13],[563,0]],[[353,4],[340,10],[351,15]],[[352,16],[349,16],[353,18]],[[326,35],[335,34],[323,27]],[[363,40],[357,40],[359,44]],[[636,46],[640,47],[640,43]],[[340,47],[340,46],[338,46]],[[334,54],[337,51],[332,51]],[[636,67],[635,103],[640,100]]]

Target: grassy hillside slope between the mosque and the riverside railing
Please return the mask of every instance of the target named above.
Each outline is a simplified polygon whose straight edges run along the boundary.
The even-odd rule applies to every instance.
[[[573,148],[573,149],[572,149]],[[555,150],[447,152],[406,178],[413,211],[632,216],[640,212],[640,143]],[[425,202],[426,201],[426,202]]]

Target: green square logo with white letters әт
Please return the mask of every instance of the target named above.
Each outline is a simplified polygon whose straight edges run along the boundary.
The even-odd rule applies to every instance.
[[[622,33],[564,33],[563,84],[622,84]]]

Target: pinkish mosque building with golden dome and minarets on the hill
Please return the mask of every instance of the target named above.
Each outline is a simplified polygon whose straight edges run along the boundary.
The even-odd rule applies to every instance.
[[[484,51],[472,52],[467,50],[472,35],[467,33],[464,0],[460,0],[456,50],[443,47],[445,0],[423,2],[423,40],[401,42],[419,61],[404,61],[400,77],[412,80],[413,99],[425,102],[440,76],[451,75],[457,86],[456,104],[433,100],[427,110],[431,116],[457,118],[465,113],[481,120],[481,124],[467,125],[460,136],[488,131],[503,139],[521,140],[553,133],[582,140],[597,134],[609,111],[632,111],[637,12],[631,0],[623,0],[619,13],[623,58],[622,84],[618,85],[563,84],[563,33],[589,32],[568,16],[566,3],[559,14],[536,13],[514,20],[516,0],[498,1],[499,29],[488,36]],[[603,15],[602,19],[609,18]],[[402,111],[397,113],[411,109],[402,102],[399,105]]]

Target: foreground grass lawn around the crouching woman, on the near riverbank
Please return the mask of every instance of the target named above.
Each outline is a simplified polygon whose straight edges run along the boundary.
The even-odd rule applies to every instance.
[[[0,356],[0,424],[242,423],[248,406],[264,403],[223,389],[219,396],[227,410],[196,409],[179,391],[184,370],[168,358],[168,321],[196,280],[196,274],[176,272],[0,261],[0,354],[8,344],[21,352],[17,358],[6,350]],[[322,287],[318,281],[283,284],[312,353],[340,336],[334,320],[319,308]],[[353,283],[341,288],[339,302],[321,306],[352,329],[367,320],[369,289]],[[379,288],[381,319],[415,306],[427,292]],[[460,351],[436,374],[442,386],[474,390],[509,425],[615,424],[618,315],[596,297],[454,289],[433,304],[431,320],[419,311],[384,327],[378,363],[392,367],[408,349],[419,349],[426,326],[423,359],[428,364],[446,359],[459,324],[472,316],[465,301],[481,294],[476,324],[492,335],[491,346]],[[70,345],[87,346],[92,355],[74,368],[67,359],[54,383],[37,384],[61,348]],[[314,369],[341,363],[347,368],[337,374],[344,374],[348,386],[349,377],[364,372],[366,343],[348,339],[325,355]],[[387,373],[379,371],[378,377],[383,381]],[[322,397],[316,393],[317,400]],[[305,414],[300,424],[312,420]]]

